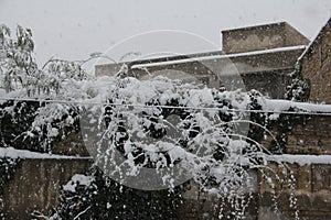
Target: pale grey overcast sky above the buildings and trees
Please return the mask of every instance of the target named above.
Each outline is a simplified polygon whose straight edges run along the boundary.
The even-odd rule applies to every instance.
[[[218,50],[221,30],[278,21],[313,38],[330,15],[330,0],[0,0],[0,23],[32,29],[40,64],[93,52],[118,59],[139,51]]]

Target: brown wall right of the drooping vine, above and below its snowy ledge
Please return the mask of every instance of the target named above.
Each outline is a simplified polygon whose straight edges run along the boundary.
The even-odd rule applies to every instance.
[[[293,124],[293,129],[288,134],[287,153],[297,156],[331,155],[331,117],[310,116],[303,124]],[[270,163],[268,166],[280,178],[289,179],[285,177],[284,169],[277,164]],[[300,218],[331,219],[331,164],[301,160],[300,164],[286,163],[286,166],[288,167],[287,172],[291,170],[293,175],[296,186],[293,195],[297,199]],[[288,182],[280,183],[274,174],[271,177],[276,183],[276,193],[281,193],[278,205],[282,212],[276,215],[277,217],[274,216],[273,219],[285,219],[293,213],[289,204],[291,191],[287,186]],[[275,215],[270,210],[273,206],[271,191],[271,187],[259,172],[259,219],[270,218]]]

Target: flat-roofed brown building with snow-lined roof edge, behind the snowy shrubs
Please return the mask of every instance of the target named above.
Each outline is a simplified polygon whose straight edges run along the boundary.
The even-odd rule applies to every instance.
[[[166,75],[212,88],[256,89],[270,98],[284,98],[289,74],[308,38],[286,22],[226,30],[222,35],[222,51],[132,61],[126,63],[127,74],[140,79]],[[114,76],[121,65],[98,65],[95,73]]]

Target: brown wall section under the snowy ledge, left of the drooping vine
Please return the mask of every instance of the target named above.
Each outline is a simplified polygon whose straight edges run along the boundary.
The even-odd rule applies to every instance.
[[[58,204],[62,186],[74,174],[86,172],[90,164],[87,158],[22,160],[13,178],[3,186],[6,219],[31,219],[34,210],[47,213]]]

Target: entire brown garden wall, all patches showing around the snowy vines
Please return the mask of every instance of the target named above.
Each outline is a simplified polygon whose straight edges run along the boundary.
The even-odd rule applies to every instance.
[[[331,118],[311,117],[305,125],[297,125],[289,134],[288,153],[290,154],[329,154],[331,155]],[[61,186],[75,173],[84,173],[90,165],[88,160],[24,160],[21,161],[13,179],[4,186],[4,212],[8,219],[30,219],[29,212],[47,212],[58,202]],[[292,170],[295,196],[300,217],[306,219],[331,218],[331,165],[330,164],[287,164]],[[282,169],[270,163],[280,177]],[[271,188],[257,173],[254,199],[247,208],[247,219],[284,219],[293,215],[290,208],[287,182],[276,183],[279,194],[277,204],[281,213],[273,211]],[[285,178],[285,179],[288,179]],[[179,208],[179,219],[217,219],[222,200],[207,196],[194,185],[183,196],[184,202]],[[225,206],[226,207],[226,206]]]

